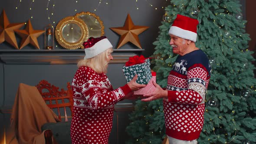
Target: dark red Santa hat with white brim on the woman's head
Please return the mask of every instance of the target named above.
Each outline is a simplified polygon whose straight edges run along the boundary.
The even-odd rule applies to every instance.
[[[106,36],[101,36],[98,38],[90,37],[87,42],[83,43],[83,46],[85,48],[84,59],[95,57],[105,50],[113,47]]]

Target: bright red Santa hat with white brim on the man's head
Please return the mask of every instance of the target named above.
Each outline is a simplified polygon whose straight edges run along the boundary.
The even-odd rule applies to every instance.
[[[198,23],[199,22],[196,19],[177,14],[177,18],[169,29],[169,35],[172,34],[174,36],[179,36],[183,39],[189,39],[196,42]]]

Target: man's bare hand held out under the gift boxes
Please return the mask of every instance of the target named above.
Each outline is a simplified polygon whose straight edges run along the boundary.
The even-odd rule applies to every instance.
[[[160,87],[160,85],[158,85],[154,81],[153,81],[153,85],[156,87],[154,92],[143,95],[144,97],[148,97],[148,98],[143,98],[143,99],[141,99],[141,101],[153,101],[153,100],[156,100],[159,98],[167,98],[168,97],[168,92],[166,90],[163,90]]]

